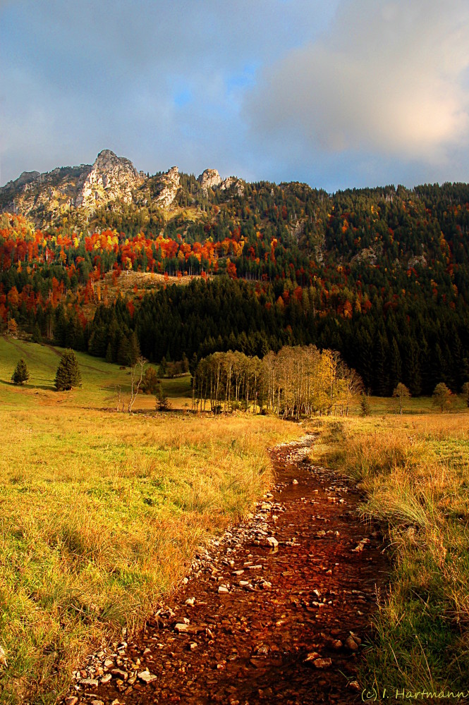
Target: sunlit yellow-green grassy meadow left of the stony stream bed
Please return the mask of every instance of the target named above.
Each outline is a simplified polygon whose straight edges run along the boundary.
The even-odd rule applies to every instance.
[[[188,413],[188,377],[165,380],[172,412],[130,375],[77,353],[83,386],[54,391],[59,350],[0,338],[0,702],[53,703],[80,654],[137,627],[197,545],[250,508],[266,448],[300,429],[275,418]],[[23,357],[30,379],[11,374]]]

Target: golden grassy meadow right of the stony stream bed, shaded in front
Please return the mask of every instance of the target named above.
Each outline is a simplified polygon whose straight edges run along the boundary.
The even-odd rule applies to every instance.
[[[426,410],[425,400],[420,403]],[[388,697],[402,689],[469,691],[464,408],[458,402],[451,414],[420,409],[315,423],[319,442],[313,457],[357,479],[365,493],[363,516],[380,522],[389,537],[391,584],[380,596],[374,642],[361,674],[363,687],[378,694],[386,689]]]

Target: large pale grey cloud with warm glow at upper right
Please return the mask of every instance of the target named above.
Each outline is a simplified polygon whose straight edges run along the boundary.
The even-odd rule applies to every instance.
[[[469,134],[463,0],[342,1],[331,27],[265,69],[245,114],[265,143],[443,164]]]

